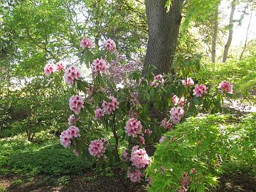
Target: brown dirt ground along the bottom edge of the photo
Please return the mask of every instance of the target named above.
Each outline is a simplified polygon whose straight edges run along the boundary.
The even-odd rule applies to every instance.
[[[22,183],[14,181],[22,180]],[[20,181],[21,181],[20,180]],[[58,182],[56,182],[58,181]],[[63,182],[63,183],[61,183]],[[50,176],[36,176],[33,181],[21,176],[0,176],[0,192],[122,192],[121,183],[112,176],[95,176],[91,173],[83,176],[68,176],[68,179],[58,180]],[[137,186],[134,192],[145,192],[146,188]],[[256,176],[246,173],[224,175],[220,178],[220,185],[215,192],[255,192]]]

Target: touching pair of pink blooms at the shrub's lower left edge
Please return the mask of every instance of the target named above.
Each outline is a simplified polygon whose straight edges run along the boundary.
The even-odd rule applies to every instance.
[[[70,147],[71,140],[73,137],[79,136],[79,129],[75,126],[70,126],[68,129],[60,134],[60,143],[66,148]]]

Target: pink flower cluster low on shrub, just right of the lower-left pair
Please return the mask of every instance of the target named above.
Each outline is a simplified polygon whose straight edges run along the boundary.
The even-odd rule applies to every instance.
[[[97,156],[98,158],[103,156],[103,154],[106,151],[106,147],[105,147],[106,143],[107,143],[106,139],[96,139],[94,141],[91,141],[88,149],[90,152],[90,155]]]

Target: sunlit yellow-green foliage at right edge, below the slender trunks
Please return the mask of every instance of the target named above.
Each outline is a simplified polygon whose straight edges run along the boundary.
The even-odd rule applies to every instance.
[[[195,74],[196,78],[208,84],[219,84],[222,80],[233,83],[235,98],[249,99],[255,102],[256,82],[256,55],[247,57],[241,61],[231,60],[228,63],[206,64],[203,69]],[[254,93],[255,94],[255,93]]]

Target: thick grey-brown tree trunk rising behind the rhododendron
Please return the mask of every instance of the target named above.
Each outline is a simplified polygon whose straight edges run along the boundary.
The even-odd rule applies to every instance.
[[[149,41],[144,66],[155,65],[155,74],[171,72],[181,25],[183,0],[172,0],[167,11],[166,0],[146,0]]]

